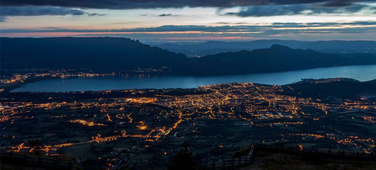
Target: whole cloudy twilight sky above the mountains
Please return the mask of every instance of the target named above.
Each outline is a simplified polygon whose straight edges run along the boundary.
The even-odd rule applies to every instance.
[[[1,37],[376,40],[376,0],[1,0]]]

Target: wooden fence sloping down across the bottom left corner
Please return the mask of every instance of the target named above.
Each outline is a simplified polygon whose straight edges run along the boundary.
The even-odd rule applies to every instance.
[[[75,162],[64,162],[58,161],[56,158],[46,158],[46,157],[33,157],[27,156],[27,154],[7,152],[6,150],[0,149],[0,156],[6,157],[10,160],[23,161],[24,163],[36,164],[41,166],[53,167],[54,169],[62,170],[72,170],[72,169],[83,169],[83,170],[118,170],[118,168],[106,168],[106,167],[93,167],[87,166],[85,164],[79,164]]]

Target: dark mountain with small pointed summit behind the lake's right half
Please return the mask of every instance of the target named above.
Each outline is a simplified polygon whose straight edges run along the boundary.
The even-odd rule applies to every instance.
[[[359,56],[358,56],[359,55]],[[372,53],[340,56],[314,51],[312,49],[290,49],[273,45],[270,49],[224,52],[191,58],[185,67],[177,68],[188,74],[242,74],[271,73],[303,70],[320,67],[376,64]]]

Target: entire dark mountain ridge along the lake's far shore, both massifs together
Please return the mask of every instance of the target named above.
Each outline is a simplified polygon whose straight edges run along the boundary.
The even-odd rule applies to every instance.
[[[79,68],[116,72],[166,67],[169,74],[203,76],[376,64],[373,53],[337,55],[282,45],[187,58],[127,38],[0,38],[0,41],[1,69]]]

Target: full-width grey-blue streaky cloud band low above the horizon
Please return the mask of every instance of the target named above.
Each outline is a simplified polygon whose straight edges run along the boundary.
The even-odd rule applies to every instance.
[[[367,27],[340,27],[340,25],[368,25]],[[81,33],[72,36],[116,36],[140,39],[143,41],[207,41],[225,39],[302,39],[302,40],[371,40],[376,37],[376,22],[349,23],[274,23],[271,25],[164,25],[159,27],[145,27],[134,29],[107,30],[76,30],[76,29],[1,29],[2,36],[17,36],[17,33],[27,33],[31,36],[37,32],[74,32]],[[320,27],[319,26],[331,26]],[[305,27],[305,29],[300,29]],[[276,29],[283,28],[283,29]],[[171,31],[171,32],[169,32]],[[184,33],[179,31],[201,31],[198,33]],[[94,33],[95,32],[95,33]],[[100,33],[102,32],[102,33]],[[123,33],[127,32],[127,33]],[[147,32],[147,33],[143,33]],[[158,32],[166,32],[164,34]],[[244,33],[249,32],[249,33]],[[41,34],[43,36],[43,34]],[[180,39],[180,40],[179,40]]]

